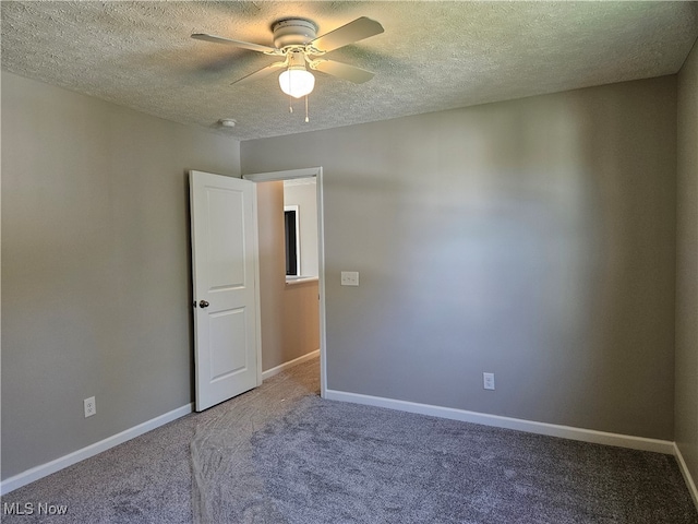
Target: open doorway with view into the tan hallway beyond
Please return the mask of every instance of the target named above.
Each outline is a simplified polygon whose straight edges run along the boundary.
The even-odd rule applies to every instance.
[[[325,289],[322,168],[242,177],[257,182],[263,379],[320,354],[325,396]],[[294,270],[288,273],[285,213],[294,213]],[[290,219],[290,217],[289,217]],[[313,238],[314,237],[314,238]],[[316,346],[316,347],[312,347]]]

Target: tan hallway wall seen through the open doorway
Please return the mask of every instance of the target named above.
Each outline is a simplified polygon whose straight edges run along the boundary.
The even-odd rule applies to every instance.
[[[320,315],[316,281],[286,284],[284,182],[257,183],[257,219],[262,369],[266,371],[320,348]]]

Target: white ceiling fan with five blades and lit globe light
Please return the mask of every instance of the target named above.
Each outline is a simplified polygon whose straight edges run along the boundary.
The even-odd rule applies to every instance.
[[[361,16],[322,36],[316,36],[317,26],[306,19],[280,20],[272,25],[272,31],[274,32],[275,47],[204,33],[193,34],[192,38],[227,44],[279,57],[281,60],[248,74],[232,84],[246,84],[284,69],[285,71],[279,75],[281,91],[287,95],[300,98],[309,95],[315,85],[315,78],[308,71],[308,68],[358,84],[371,80],[373,78],[371,71],[320,57],[354,41],[378,35],[384,29],[378,22]]]

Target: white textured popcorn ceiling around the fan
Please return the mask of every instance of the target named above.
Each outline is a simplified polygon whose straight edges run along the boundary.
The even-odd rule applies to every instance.
[[[274,136],[672,74],[698,35],[698,2],[2,1],[2,68],[239,140]],[[316,73],[310,123],[289,114],[275,61],[192,33],[273,45],[270,25],[318,34],[359,16],[385,33],[327,58],[376,74]],[[232,129],[217,126],[237,120]]]

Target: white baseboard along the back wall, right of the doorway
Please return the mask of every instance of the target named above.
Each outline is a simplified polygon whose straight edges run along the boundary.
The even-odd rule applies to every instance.
[[[361,395],[358,393],[347,393],[344,391],[327,390],[325,398],[330,401],[353,402],[356,404],[368,404],[389,409],[431,415],[434,417],[450,418],[464,422],[482,424],[497,428],[516,429],[529,433],[546,434],[549,437],[561,437],[563,439],[580,440],[595,444],[617,445],[633,450],[653,451],[673,455],[675,445],[669,440],[646,439],[643,437],[631,437],[627,434],[609,433],[593,429],[574,428],[570,426],[559,426],[556,424],[535,422],[520,418],[501,417],[498,415],[488,415],[485,413],[468,412],[453,407],[433,406],[430,404],[418,404],[407,401],[395,401],[380,396]]]

